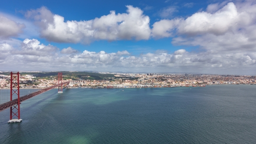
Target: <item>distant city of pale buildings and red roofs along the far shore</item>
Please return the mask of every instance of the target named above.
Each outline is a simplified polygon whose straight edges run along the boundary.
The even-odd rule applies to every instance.
[[[161,73],[118,73],[102,80],[89,79],[89,75],[80,75],[85,79],[67,79],[63,75],[63,82],[70,81],[66,88],[160,88],[160,87],[204,87],[206,85],[256,85],[256,76],[250,75],[212,75],[212,74],[161,74]],[[21,73],[22,74],[22,73]],[[0,75],[0,87],[8,88],[7,75]],[[10,77],[10,76],[9,76]],[[7,79],[6,79],[7,78]],[[6,79],[4,81],[4,79]],[[36,78],[34,75],[23,75],[20,79],[20,88],[47,88],[57,84],[56,76]],[[4,87],[3,87],[4,88]]]

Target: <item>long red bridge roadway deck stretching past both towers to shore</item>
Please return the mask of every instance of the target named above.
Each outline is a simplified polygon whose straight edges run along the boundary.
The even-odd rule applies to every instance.
[[[69,83],[69,82],[63,82],[62,85],[65,85],[65,84],[68,84],[68,83]],[[47,92],[47,91],[49,91],[49,90],[51,90],[51,89],[53,89],[53,88],[56,88],[56,87],[58,87],[58,86],[61,86],[61,84],[53,85],[53,86],[50,86],[50,87],[48,87],[48,88],[44,88],[44,89],[41,89],[41,90],[39,90],[39,91],[33,92],[33,93],[31,93],[31,94],[24,95],[24,96],[20,97],[20,102],[25,101],[25,100],[27,100],[27,99],[29,99],[29,98],[32,98],[32,97],[34,97],[34,96],[36,96],[36,95],[39,95],[39,94],[41,94],[41,93],[43,93],[43,92]],[[3,103],[3,104],[0,105],[0,111],[3,111],[3,110],[5,110],[5,109],[10,108],[10,107],[12,107],[13,105],[17,105],[17,104],[18,104],[18,98],[14,99],[14,100],[12,100],[12,101],[8,101],[8,102],[6,102],[6,103]]]

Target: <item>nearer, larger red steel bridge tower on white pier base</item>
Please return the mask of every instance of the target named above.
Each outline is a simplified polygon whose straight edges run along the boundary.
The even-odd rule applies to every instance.
[[[8,121],[8,123],[21,122],[22,119],[20,119],[20,72],[11,72],[10,76],[10,101],[16,98],[18,99],[18,101],[17,105],[10,107],[10,121]]]

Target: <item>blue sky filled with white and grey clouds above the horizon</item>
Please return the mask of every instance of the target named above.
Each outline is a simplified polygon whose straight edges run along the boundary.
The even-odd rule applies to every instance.
[[[1,0],[0,71],[256,75],[256,1]]]

